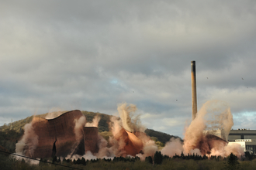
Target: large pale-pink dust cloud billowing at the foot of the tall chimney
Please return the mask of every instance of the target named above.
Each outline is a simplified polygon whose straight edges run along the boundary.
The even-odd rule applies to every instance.
[[[232,151],[240,157],[241,146],[230,148],[227,145],[227,136],[233,125],[230,107],[226,103],[218,100],[207,101],[185,131],[185,153],[199,149],[202,155],[227,156]],[[218,137],[216,132],[220,133]]]

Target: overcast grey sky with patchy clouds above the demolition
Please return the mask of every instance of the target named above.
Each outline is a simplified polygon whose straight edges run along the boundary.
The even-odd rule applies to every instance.
[[[50,110],[117,113],[183,138],[222,100],[256,129],[256,1],[1,1],[0,125]]]

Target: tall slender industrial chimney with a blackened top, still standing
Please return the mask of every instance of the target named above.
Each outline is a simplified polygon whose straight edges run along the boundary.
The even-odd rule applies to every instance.
[[[191,80],[192,80],[192,120],[194,120],[197,113],[195,61],[191,61]]]

